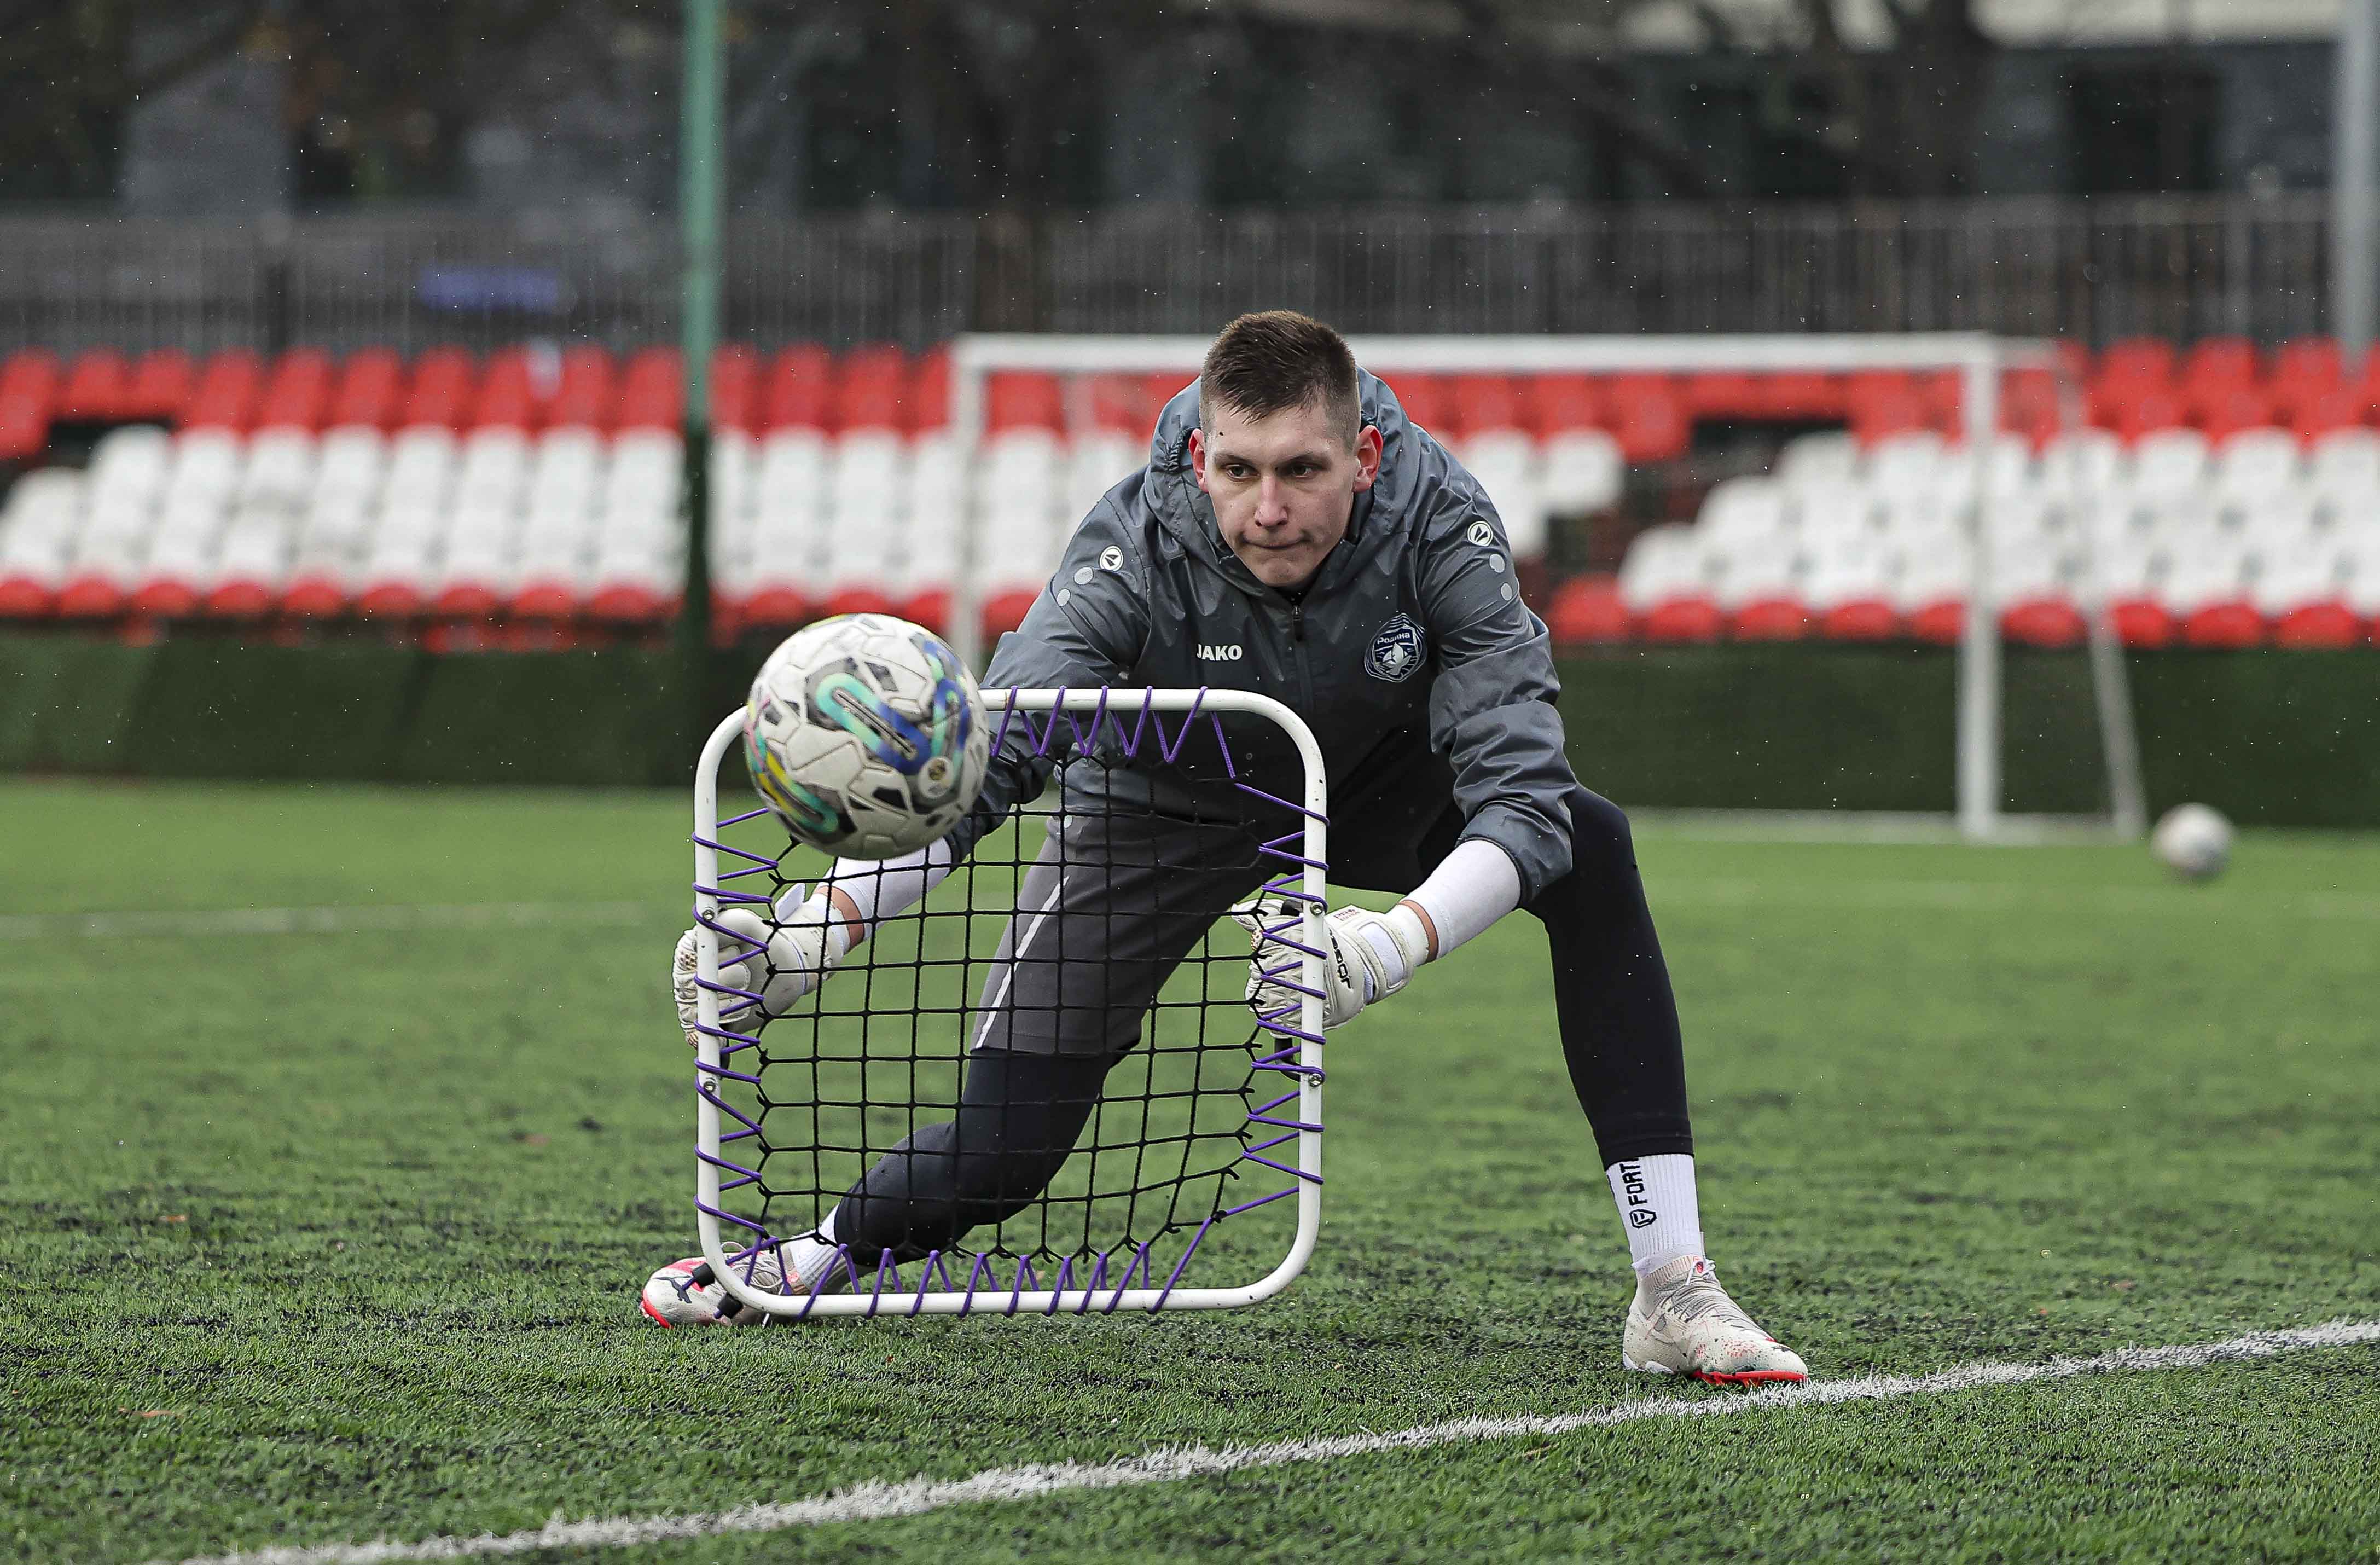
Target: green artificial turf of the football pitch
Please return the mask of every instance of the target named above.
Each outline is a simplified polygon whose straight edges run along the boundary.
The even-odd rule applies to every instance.
[[[659,1332],[690,1093],[659,796],[5,784],[0,915],[647,900],[652,927],[0,941],[0,1546],[148,1560],[802,1498],[1461,1415],[1618,1370],[1542,941],[1330,1046],[1323,1246],[1254,1313]],[[1704,1227],[1818,1377],[2380,1317],[2380,843],[1642,858]],[[2368,1551],[2375,1353],[1633,1424],[814,1536],[816,1558]]]

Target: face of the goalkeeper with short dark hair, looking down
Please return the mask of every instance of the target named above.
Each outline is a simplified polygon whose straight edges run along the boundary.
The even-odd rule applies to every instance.
[[[1190,472],[1223,543],[1257,581],[1304,586],[1347,536],[1357,491],[1380,476],[1380,431],[1366,424],[1349,450],[1319,400],[1264,417],[1214,405],[1204,417],[1190,431]]]

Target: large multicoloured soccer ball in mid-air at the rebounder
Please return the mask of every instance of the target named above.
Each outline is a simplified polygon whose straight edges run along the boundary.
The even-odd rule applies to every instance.
[[[797,843],[897,858],[957,827],[983,788],[983,696],[942,641],[892,615],[785,638],[745,700],[745,767]]]

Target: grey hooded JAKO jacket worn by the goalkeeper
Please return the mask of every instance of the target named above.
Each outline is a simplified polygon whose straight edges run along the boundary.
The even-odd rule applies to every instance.
[[[1552,643],[1521,603],[1488,493],[1395,393],[1361,376],[1380,429],[1380,476],[1354,498],[1347,538],[1290,598],[1230,553],[1188,462],[1197,386],[1157,419],[1150,464],[1116,484],[1066,543],[1050,586],[1000,641],[985,691],[1240,688],[1314,729],[1330,786],[1330,879],[1407,891],[1421,834],[1454,803],[1461,836],[1499,846],[1523,900],[1571,869],[1576,786],[1554,710]],[[1297,755],[1264,722],[1226,722],[1238,774],[1297,798]],[[1050,774],[1023,724],[992,757],[962,850]],[[1166,815],[1235,817],[1278,834],[1226,781],[1214,746],[1173,765],[1107,755],[1066,786]]]

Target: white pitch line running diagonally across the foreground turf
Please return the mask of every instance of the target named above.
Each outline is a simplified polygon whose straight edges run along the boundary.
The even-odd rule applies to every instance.
[[[1597,1408],[1592,1413],[1564,1413],[1554,1417],[1464,1417],[1445,1424],[1418,1424],[1392,1434],[1340,1434],[1304,1441],[1278,1441],[1271,1446],[1178,1446],[1128,1455],[1116,1463],[1038,1463],[1031,1467],[990,1467],[964,1479],[914,1477],[900,1484],[859,1484],[838,1489],[809,1501],[738,1505],[735,1510],[712,1510],[693,1515],[654,1517],[607,1517],[593,1522],[564,1522],[555,1517],[533,1532],[440,1536],[419,1544],[324,1544],[314,1548],[257,1548],[250,1553],[226,1553],[181,1560],[181,1565],[383,1565],[388,1560],[476,1560],[512,1553],[536,1553],[540,1548],[628,1548],[635,1544],[671,1544],[681,1539],[707,1539],[738,1532],[788,1532],[795,1527],[823,1527],[828,1522],[881,1522],[952,1505],[983,1505],[997,1501],[1031,1501],[1054,1494],[1078,1494],[1097,1489],[1133,1489],[1138,1484],[1171,1484],[1178,1479],[1221,1477],[1257,1467],[1288,1467],[1292,1463],[1333,1463],[1349,1455],[1376,1455],[1383,1451],[1428,1451],[1433,1446],[1466,1446],[1473,1441],[1502,1441],[1521,1436],[1573,1434],[1578,1429],[1609,1429],[1614,1424],[1637,1424],[1647,1420],[1685,1417],[1735,1417],[1742,1413],[1785,1413],[1797,1408],[1833,1408],[1840,1403],[1875,1403],[1902,1396],[1949,1396],[1954,1391],[1978,1391],[1985,1386],[2023,1386],[2044,1379],[2068,1379],[2075,1374],[2113,1374],[2123,1370],[2202,1370],[2218,1363],[2273,1358],[2278,1353],[2306,1353],[2309,1348],[2354,1348],[2380,1343],[2380,1322],[2337,1320],[2323,1327],[2297,1332],[2249,1332],[2228,1341],[2182,1343],[2173,1348],[2116,1348],[2097,1358],[2052,1358],[2047,1363],[1964,1365],[1937,1374],[1864,1374],[1856,1379],[1825,1379],[1804,1386],[1775,1386],[1745,1396],[1709,1398],[1637,1398]]]

